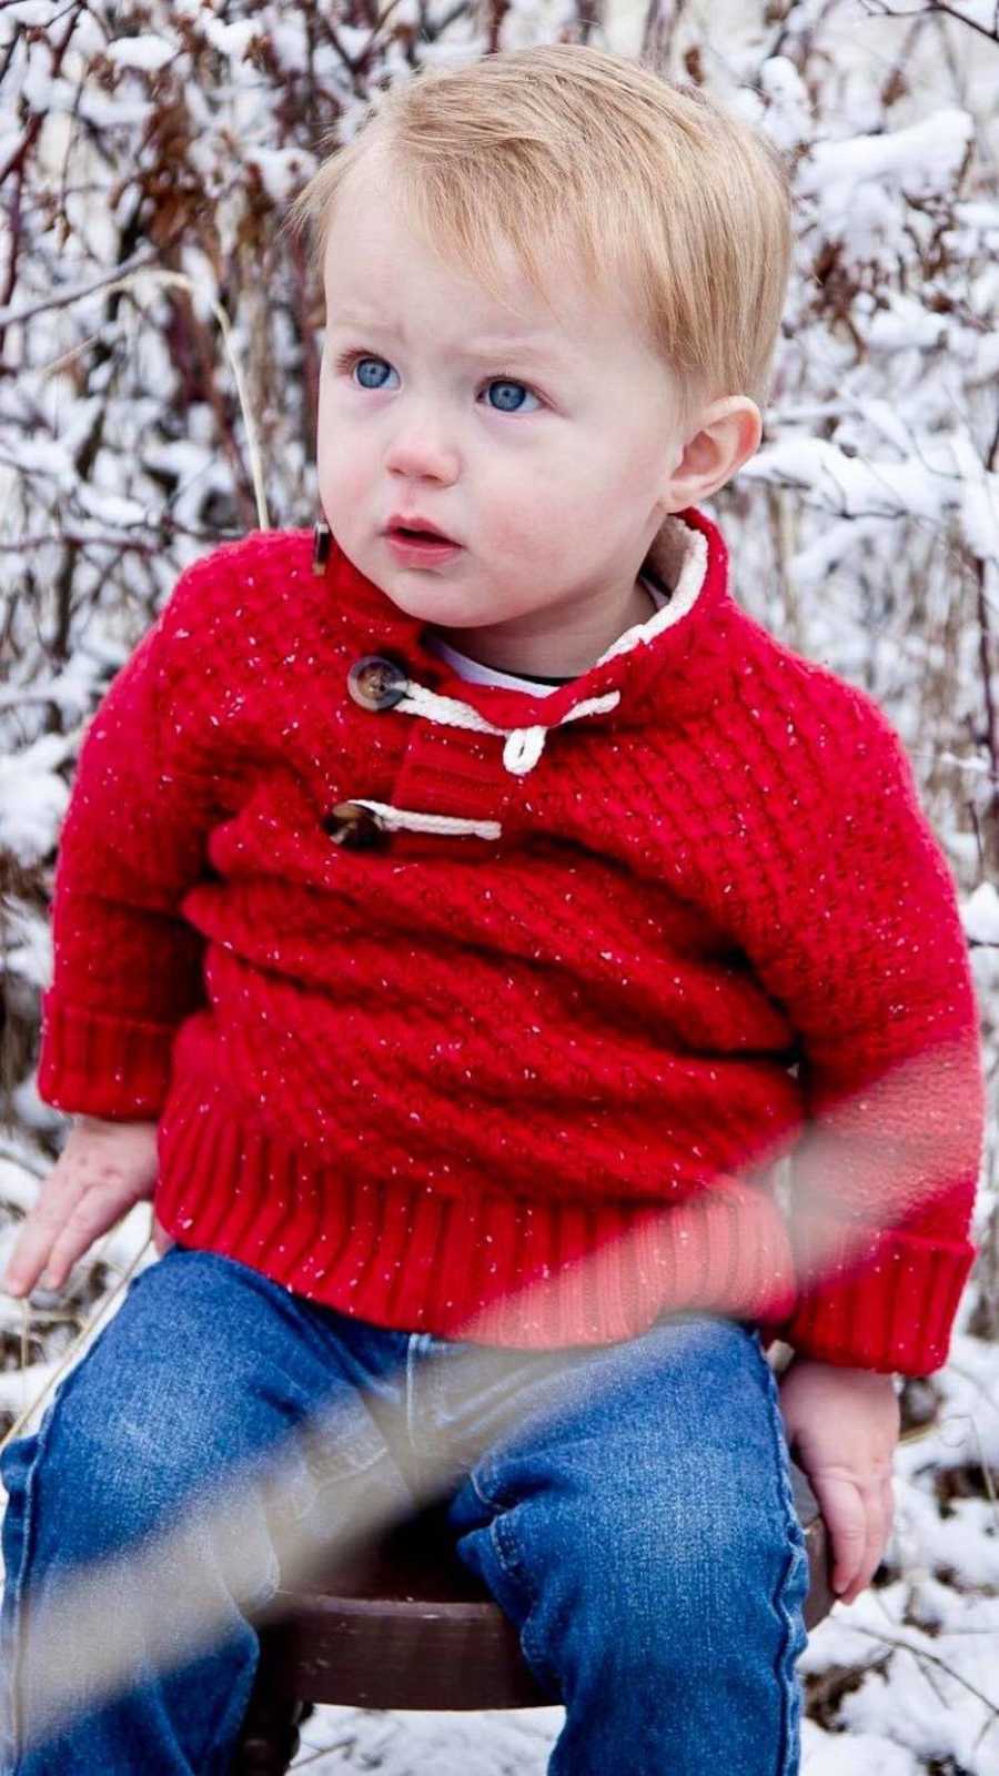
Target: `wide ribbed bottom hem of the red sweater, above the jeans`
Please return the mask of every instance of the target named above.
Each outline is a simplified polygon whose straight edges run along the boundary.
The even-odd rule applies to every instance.
[[[780,1320],[795,1302],[780,1213],[738,1179],[654,1209],[444,1197],[315,1167],[197,1082],[174,1085],[158,1147],[171,1238],[375,1325],[540,1350],[635,1337],[670,1311]]]

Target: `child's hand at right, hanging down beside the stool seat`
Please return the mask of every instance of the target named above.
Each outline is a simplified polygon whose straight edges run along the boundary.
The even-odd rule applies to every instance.
[[[780,1414],[832,1542],[832,1588],[851,1604],[875,1577],[892,1527],[901,1412],[891,1375],[795,1357]]]

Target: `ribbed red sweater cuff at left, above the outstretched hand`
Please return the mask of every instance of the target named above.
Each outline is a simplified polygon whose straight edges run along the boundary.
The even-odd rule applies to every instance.
[[[57,1110],[155,1121],[164,1108],[176,1025],[114,1018],[43,995],[37,1094]]]

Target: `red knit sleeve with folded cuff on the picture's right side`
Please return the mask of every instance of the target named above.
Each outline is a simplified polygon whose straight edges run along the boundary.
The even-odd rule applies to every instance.
[[[930,1375],[976,1257],[979,1012],[955,883],[882,710],[848,693],[814,844],[752,961],[800,1037],[798,1300],[777,1336],[830,1364]]]

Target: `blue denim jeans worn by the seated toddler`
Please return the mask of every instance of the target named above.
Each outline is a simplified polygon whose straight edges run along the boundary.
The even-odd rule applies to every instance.
[[[44,1737],[34,1625],[60,1581],[183,1520],[226,1474],[260,1479],[238,1542],[274,1597],[265,1481],[293,1431],[283,1497],[316,1536],[361,1499],[405,1515],[444,1463],[457,1552],[565,1705],[549,1776],[796,1776],[807,1554],[752,1327],[663,1316],[615,1344],[500,1352],[352,1320],[181,1247],[135,1277],[37,1433],[4,1453],[4,1776],[229,1769],[258,1636],[224,1538],[192,1543],[171,1575],[206,1595],[213,1637],[167,1666],[135,1645],[108,1698],[87,1693],[68,1636],[57,1664],[78,1701]],[[130,1582],[110,1614],[128,1618]]]

